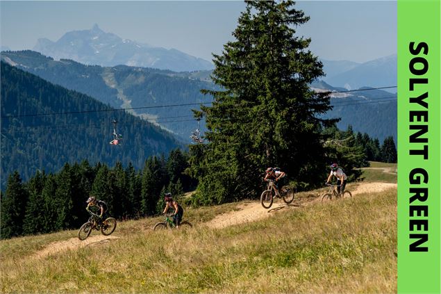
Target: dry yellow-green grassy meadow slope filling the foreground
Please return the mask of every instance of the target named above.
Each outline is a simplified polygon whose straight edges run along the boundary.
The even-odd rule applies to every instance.
[[[367,181],[382,177],[372,171]],[[2,240],[1,293],[397,292],[395,189],[203,225],[240,204],[186,210],[189,230],[151,231],[162,218],[119,222],[116,239],[47,256],[35,254],[77,231]]]

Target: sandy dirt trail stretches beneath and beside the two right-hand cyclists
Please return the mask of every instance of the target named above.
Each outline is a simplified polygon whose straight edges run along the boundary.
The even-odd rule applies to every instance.
[[[356,186],[351,192],[352,195],[358,195],[361,193],[378,193],[389,188],[397,188],[396,183],[362,183]],[[318,195],[317,195],[318,196]],[[264,209],[260,202],[253,202],[243,204],[239,208],[240,211],[232,211],[230,213],[223,213],[222,215],[217,215],[216,218],[206,222],[206,225],[213,229],[219,229],[223,227],[228,227],[233,224],[242,224],[244,222],[252,222],[255,220],[260,220],[262,218],[269,218],[278,211],[283,209],[293,209],[301,206],[308,206],[315,202],[319,202],[319,197],[310,197],[307,199],[294,200],[292,204],[285,204],[280,199],[274,202],[271,209]]]

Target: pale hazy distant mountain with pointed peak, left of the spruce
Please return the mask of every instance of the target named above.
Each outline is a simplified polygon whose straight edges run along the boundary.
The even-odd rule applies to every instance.
[[[106,33],[97,24],[90,30],[70,31],[59,40],[38,39],[33,50],[56,60],[72,59],[85,65],[129,65],[174,72],[212,70],[213,64],[176,49],[151,47]]]

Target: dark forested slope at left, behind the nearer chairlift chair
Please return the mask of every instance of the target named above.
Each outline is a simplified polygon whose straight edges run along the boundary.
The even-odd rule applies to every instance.
[[[113,120],[122,145],[109,144]],[[2,188],[14,170],[29,179],[36,170],[56,172],[84,159],[142,168],[149,156],[178,146],[172,134],[139,117],[1,63]]]

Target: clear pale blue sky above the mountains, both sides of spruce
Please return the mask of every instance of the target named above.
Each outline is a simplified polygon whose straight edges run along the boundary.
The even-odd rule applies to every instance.
[[[242,1],[1,1],[0,40],[32,49],[94,24],[108,33],[211,59],[233,40]],[[365,62],[397,51],[396,1],[297,1],[310,16],[297,28],[326,60]]]

